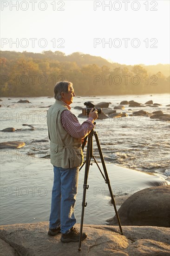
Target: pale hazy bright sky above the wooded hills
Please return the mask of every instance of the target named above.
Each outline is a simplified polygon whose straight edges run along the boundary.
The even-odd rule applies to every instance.
[[[1,0],[0,10],[3,51],[82,52],[131,65],[170,62],[169,0]]]

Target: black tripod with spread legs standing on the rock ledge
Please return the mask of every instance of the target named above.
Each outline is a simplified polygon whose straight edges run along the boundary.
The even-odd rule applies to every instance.
[[[101,159],[101,162],[102,162],[102,166],[103,166],[105,175],[102,173],[102,171],[101,171],[101,169],[100,169],[100,167],[98,165],[98,162],[96,161],[96,158],[93,155],[93,145],[92,145],[92,137],[93,137],[93,135],[95,136],[95,139],[96,139],[96,142],[97,142],[98,152],[99,152],[99,155],[100,155],[100,159]],[[83,149],[85,147],[86,141],[87,141],[87,136],[85,137],[85,140],[84,140],[83,145],[82,145]],[[80,224],[80,238],[79,238],[78,250],[81,250],[81,236],[82,236],[82,231],[83,231],[84,211],[85,211],[85,207],[87,205],[87,203],[85,202],[85,195],[86,195],[86,189],[89,188],[89,185],[87,185],[87,179],[88,179],[88,174],[89,174],[89,167],[90,167],[91,158],[94,159],[94,162],[97,164],[98,169],[99,169],[101,175],[103,176],[103,178],[105,180],[105,183],[108,184],[109,192],[110,192],[110,195],[111,195],[111,201],[113,203],[113,206],[114,206],[114,209],[115,209],[115,213],[116,213],[116,216],[117,216],[117,220],[118,220],[118,225],[119,225],[120,233],[121,233],[121,235],[123,235],[122,227],[121,227],[121,224],[120,224],[120,219],[119,219],[118,212],[117,212],[117,209],[116,209],[115,200],[114,200],[114,197],[113,197],[113,194],[112,194],[111,185],[110,185],[109,177],[108,177],[106,166],[105,166],[105,160],[104,160],[104,157],[103,157],[103,154],[102,154],[102,150],[101,150],[101,147],[100,147],[100,142],[98,140],[98,134],[96,133],[96,131],[94,131],[92,129],[92,131],[88,135],[86,160],[83,163],[83,165],[81,166],[81,168],[83,168],[83,166],[85,165],[85,178],[84,178],[84,185],[83,185],[83,189],[84,190],[83,190],[83,202],[82,202],[81,224]],[[80,168],[80,170],[81,170],[81,168]]]

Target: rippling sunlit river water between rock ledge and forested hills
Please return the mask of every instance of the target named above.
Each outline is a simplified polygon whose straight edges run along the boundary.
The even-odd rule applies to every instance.
[[[48,221],[49,218],[53,173],[50,160],[43,157],[49,155],[50,144],[46,126],[46,111],[54,99],[47,97],[26,99],[31,103],[16,103],[20,100],[19,98],[11,98],[11,100],[2,98],[3,101],[1,101],[1,130],[8,127],[22,128],[15,132],[1,132],[1,142],[24,141],[26,143],[24,148],[0,150],[1,224]],[[109,107],[114,108],[123,100],[134,100],[143,104],[152,100],[154,103],[162,104],[162,106],[135,107],[129,110],[130,108],[125,105],[124,110],[117,110],[117,112],[126,112],[127,117],[97,120],[95,130],[98,132],[105,162],[114,163],[115,168],[120,166],[147,173],[170,175],[170,122],[150,119],[150,117],[145,116],[129,116],[132,111],[141,109],[149,113],[162,110],[164,114],[169,114],[170,107],[166,106],[170,104],[169,94],[75,97],[72,112],[78,116],[81,110],[74,109],[74,107],[84,107],[85,101],[94,101],[94,104],[107,101],[111,102]],[[79,118],[80,122],[84,120],[84,118]],[[35,130],[29,130],[30,127],[22,126],[23,124],[32,125]],[[39,140],[44,141],[39,142]],[[100,162],[95,141],[94,156]],[[118,170],[117,168],[116,175]],[[138,175],[137,188],[143,189],[159,185],[159,182],[154,183],[155,180],[152,181],[150,175],[150,181],[147,181],[145,177],[148,175],[141,177],[140,172],[135,171],[135,173]],[[123,188],[127,185],[128,188],[132,189],[135,186],[135,184],[132,185],[133,174],[128,178],[129,183],[125,184],[127,174],[128,172],[125,172],[116,181],[115,177],[111,176],[113,186]],[[82,174],[80,172],[75,209],[78,220],[82,200],[80,188],[83,178],[82,171]],[[90,202],[89,209],[86,210],[88,217],[85,217],[85,222],[104,223],[105,219],[113,216],[106,216],[106,212],[112,211],[109,196],[101,196],[105,182],[102,180],[99,182],[96,175],[92,175],[90,179],[93,192],[88,190],[89,195],[87,197]],[[120,184],[120,180],[125,183]],[[97,193],[101,197],[94,196],[94,188],[96,187],[98,188],[97,191],[101,190],[101,193]],[[124,189],[121,190],[124,191]],[[126,194],[130,195],[131,193]],[[92,209],[90,209],[91,206]]]

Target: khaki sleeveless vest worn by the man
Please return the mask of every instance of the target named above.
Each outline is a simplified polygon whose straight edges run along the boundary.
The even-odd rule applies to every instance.
[[[63,128],[61,113],[64,110],[68,110],[66,105],[56,100],[47,112],[51,163],[56,167],[75,168],[83,163],[81,139],[73,138]]]

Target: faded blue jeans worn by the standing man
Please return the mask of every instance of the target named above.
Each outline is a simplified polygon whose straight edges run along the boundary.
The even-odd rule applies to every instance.
[[[79,168],[64,169],[54,166],[50,229],[61,228],[65,234],[76,223],[74,205],[78,190]]]

